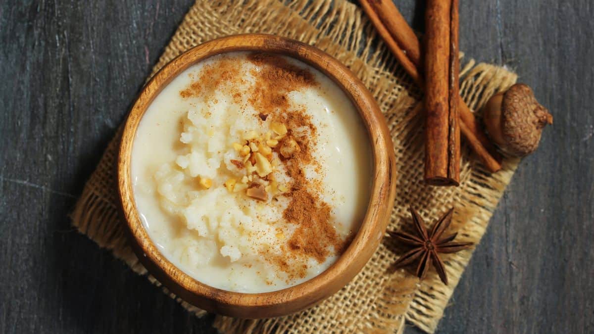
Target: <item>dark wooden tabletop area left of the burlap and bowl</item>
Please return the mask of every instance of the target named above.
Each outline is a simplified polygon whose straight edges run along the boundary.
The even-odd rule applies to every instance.
[[[191,4],[0,2],[0,332],[214,332],[67,218]]]

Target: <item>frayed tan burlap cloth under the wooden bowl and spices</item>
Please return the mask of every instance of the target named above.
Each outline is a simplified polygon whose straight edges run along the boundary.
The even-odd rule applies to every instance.
[[[271,33],[301,40],[347,65],[377,99],[394,142],[397,196],[389,228],[411,228],[407,211],[410,204],[421,212],[426,222],[433,222],[453,206],[456,210],[451,230],[459,233],[457,240],[478,244],[518,160],[505,160],[503,170],[490,175],[464,146],[460,186],[426,186],[422,181],[424,122],[417,107],[422,96],[356,5],[345,0],[198,0],[185,16],[153,74],[192,46],[238,33]],[[466,61],[461,78],[461,93],[475,110],[492,94],[516,81],[515,74],[501,67],[473,61]],[[118,143],[119,134],[109,144],[84,187],[72,221],[80,232],[111,250],[132,270],[160,285],[147,275],[132,253],[118,216],[114,169]],[[440,282],[433,269],[424,281],[419,281],[408,270],[394,271],[391,264],[403,251],[390,238],[384,238],[352,282],[308,310],[262,320],[218,316],[214,326],[226,333],[400,333],[409,322],[426,332],[434,332],[472,250],[445,254],[448,286]],[[198,316],[204,314],[176,299]]]

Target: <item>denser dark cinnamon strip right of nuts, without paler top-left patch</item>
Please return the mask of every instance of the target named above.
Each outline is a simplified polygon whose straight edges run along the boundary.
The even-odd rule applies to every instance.
[[[311,72],[279,56],[252,53],[248,59],[263,67],[252,73],[256,84],[248,102],[261,114],[285,124],[289,129],[289,136],[285,140],[296,140],[300,149],[290,159],[284,159],[287,175],[293,179],[293,184],[285,194],[289,197],[289,204],[283,212],[283,218],[295,224],[296,229],[286,241],[286,247],[283,245],[285,256],[267,259],[290,278],[303,278],[307,273],[309,258],[323,263],[328,256],[340,253],[345,245],[330,221],[331,207],[317,195],[321,191],[321,184],[309,182],[303,170],[305,165],[319,165],[312,157],[310,148],[316,143],[317,129],[312,124],[311,116],[304,110],[290,106],[286,97],[293,90],[315,86],[317,82]],[[309,128],[309,136],[292,135],[293,130],[304,127]]]

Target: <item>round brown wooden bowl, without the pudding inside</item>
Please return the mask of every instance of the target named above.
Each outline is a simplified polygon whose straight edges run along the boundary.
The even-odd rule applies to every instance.
[[[130,174],[132,143],[144,112],[153,99],[178,74],[210,56],[234,51],[279,53],[299,59],[330,77],[350,97],[365,122],[374,157],[371,198],[350,246],[325,272],[307,282],[279,291],[244,294],[213,288],[173,266],[157,250],[138,215]],[[211,40],[183,53],[165,65],[146,84],[132,106],[122,135],[118,160],[118,187],[122,213],[132,249],[159,282],[188,303],[214,313],[244,318],[283,316],[311,305],[346,285],[365,265],[386,231],[393,206],[395,158],[386,126],[371,93],[344,65],[304,43],[267,34],[241,34]]]

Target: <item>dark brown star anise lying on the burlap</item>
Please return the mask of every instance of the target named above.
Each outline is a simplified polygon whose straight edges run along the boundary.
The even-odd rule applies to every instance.
[[[404,232],[388,232],[388,234],[404,242],[405,244],[415,247],[408,253],[401,256],[400,259],[394,263],[394,267],[404,267],[416,259],[421,259],[419,261],[418,267],[416,267],[416,276],[423,279],[425,277],[425,273],[427,272],[427,267],[429,267],[429,259],[431,259],[431,263],[433,263],[435,270],[437,270],[441,282],[444,282],[444,284],[447,285],[445,267],[438,256],[438,253],[456,253],[457,251],[469,248],[472,245],[472,242],[451,242],[454,240],[454,238],[456,238],[457,233],[448,235],[445,238],[441,238],[443,232],[450,226],[453,212],[454,209],[452,208],[439,220],[437,220],[431,229],[431,233],[428,234],[427,229],[425,228],[424,220],[411,206],[410,213],[412,215],[412,220],[415,223],[416,235],[411,235]]]

